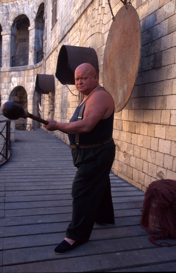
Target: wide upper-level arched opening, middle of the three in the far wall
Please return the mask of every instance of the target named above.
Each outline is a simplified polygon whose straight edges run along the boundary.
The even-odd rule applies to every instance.
[[[11,31],[11,66],[28,65],[29,19],[25,14],[17,16]]]

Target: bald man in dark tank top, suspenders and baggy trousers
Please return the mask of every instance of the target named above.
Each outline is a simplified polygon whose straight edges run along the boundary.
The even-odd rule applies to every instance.
[[[95,68],[88,63],[76,68],[75,85],[84,98],[69,123],[47,119],[49,124],[43,125],[49,131],[68,133],[73,164],[77,168],[72,185],[72,221],[66,237],[55,248],[55,254],[69,252],[86,243],[95,222],[114,224],[109,177],[115,157],[114,102],[98,83]]]

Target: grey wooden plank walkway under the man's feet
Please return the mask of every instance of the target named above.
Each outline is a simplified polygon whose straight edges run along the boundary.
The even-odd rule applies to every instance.
[[[71,150],[44,130],[16,131],[0,167],[0,272],[176,270],[176,240],[157,247],[140,227],[144,192],[111,173],[114,226],[95,224],[88,243],[56,255],[71,221]],[[159,241],[160,242],[160,241]]]

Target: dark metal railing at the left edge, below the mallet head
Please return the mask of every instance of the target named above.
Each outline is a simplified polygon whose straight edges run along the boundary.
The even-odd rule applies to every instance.
[[[0,121],[0,166],[10,157],[10,120]]]

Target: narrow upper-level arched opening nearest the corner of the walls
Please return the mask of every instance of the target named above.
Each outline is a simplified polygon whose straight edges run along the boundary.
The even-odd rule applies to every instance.
[[[44,3],[39,6],[35,20],[35,60],[37,64],[43,58]]]

